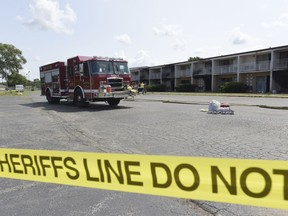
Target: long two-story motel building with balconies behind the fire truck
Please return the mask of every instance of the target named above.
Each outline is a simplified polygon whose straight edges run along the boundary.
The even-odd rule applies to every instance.
[[[174,91],[180,84],[217,92],[223,82],[243,82],[250,92],[288,92],[288,45],[153,67],[130,68],[132,80],[162,84]]]

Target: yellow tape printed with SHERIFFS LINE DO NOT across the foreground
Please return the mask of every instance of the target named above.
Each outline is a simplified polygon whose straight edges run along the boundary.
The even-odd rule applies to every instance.
[[[0,148],[0,177],[288,209],[288,161]]]

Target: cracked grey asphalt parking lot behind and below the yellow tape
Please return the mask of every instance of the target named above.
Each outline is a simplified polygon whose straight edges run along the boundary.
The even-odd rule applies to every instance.
[[[210,100],[235,115],[200,112]],[[284,98],[147,94],[111,108],[49,105],[38,92],[0,97],[1,148],[288,160]],[[287,215],[227,203],[0,179],[3,215]]]

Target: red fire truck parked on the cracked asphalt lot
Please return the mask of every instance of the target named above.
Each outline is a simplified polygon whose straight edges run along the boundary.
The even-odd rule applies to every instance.
[[[51,104],[61,99],[85,107],[89,101],[111,106],[128,97],[131,82],[128,62],[106,57],[76,56],[40,67],[41,95]]]

